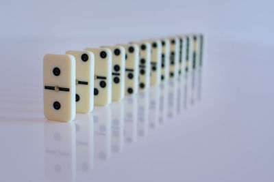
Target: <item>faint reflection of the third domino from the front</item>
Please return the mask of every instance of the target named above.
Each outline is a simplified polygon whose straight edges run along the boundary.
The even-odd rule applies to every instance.
[[[109,106],[95,107],[92,112],[95,134],[95,162],[110,158],[111,110]]]

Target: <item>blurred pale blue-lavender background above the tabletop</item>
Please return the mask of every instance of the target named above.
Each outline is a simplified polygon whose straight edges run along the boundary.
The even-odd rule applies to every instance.
[[[0,37],[121,40],[202,32],[209,38],[273,44],[274,2],[2,1]]]

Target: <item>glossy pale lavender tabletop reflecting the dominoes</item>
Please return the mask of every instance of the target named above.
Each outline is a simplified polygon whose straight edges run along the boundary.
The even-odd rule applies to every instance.
[[[0,181],[274,181],[273,47],[208,41],[203,70],[47,121],[42,56],[86,44],[1,43]]]

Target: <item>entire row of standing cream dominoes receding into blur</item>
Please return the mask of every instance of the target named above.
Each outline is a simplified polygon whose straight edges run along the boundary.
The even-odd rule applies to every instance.
[[[69,122],[75,112],[108,106],[202,65],[203,35],[178,35],[45,55],[44,115]]]

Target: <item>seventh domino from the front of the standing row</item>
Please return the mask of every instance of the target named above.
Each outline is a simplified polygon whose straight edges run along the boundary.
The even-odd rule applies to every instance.
[[[151,44],[151,76],[150,85],[157,85],[161,80],[162,44],[160,40],[147,40]]]

